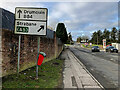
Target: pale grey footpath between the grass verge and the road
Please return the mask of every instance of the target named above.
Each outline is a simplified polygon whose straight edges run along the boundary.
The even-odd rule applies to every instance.
[[[85,66],[69,49],[65,51],[64,58],[64,89],[104,90],[103,86],[89,73]]]

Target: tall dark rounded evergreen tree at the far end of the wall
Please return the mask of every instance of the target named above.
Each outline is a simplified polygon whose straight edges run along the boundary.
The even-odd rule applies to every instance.
[[[56,36],[57,36],[58,38],[60,38],[60,40],[61,40],[63,43],[66,43],[66,42],[67,42],[67,40],[68,40],[68,35],[67,35],[67,31],[66,31],[66,28],[65,28],[64,23],[58,23],[57,29],[56,29]]]

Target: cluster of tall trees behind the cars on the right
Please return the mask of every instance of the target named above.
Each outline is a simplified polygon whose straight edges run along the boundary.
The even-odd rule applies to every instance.
[[[89,40],[89,42],[92,42],[94,44],[102,44],[103,39],[106,39],[107,44],[114,42],[120,43],[120,30],[118,31],[115,27],[112,28],[111,32],[107,29],[104,29],[103,33],[101,30],[98,30],[92,34],[92,38]]]

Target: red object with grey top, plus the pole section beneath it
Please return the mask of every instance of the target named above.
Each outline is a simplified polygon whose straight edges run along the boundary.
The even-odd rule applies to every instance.
[[[36,65],[36,78],[37,79],[38,79],[38,66],[40,66],[42,64],[44,57],[46,57],[46,54],[44,52],[40,52],[38,54],[37,65]]]

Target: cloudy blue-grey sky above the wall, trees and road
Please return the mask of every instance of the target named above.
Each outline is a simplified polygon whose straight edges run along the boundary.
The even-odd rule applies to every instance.
[[[15,13],[15,7],[48,8],[48,26],[63,22],[73,40],[82,35],[91,37],[97,30],[118,27],[118,0],[111,2],[2,2],[0,7]]]

